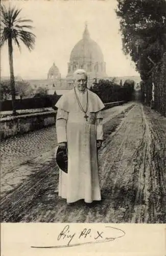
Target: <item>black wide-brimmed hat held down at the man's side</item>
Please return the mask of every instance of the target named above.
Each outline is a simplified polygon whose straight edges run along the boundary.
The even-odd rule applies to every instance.
[[[56,147],[55,150],[55,159],[57,162],[58,167],[67,174],[68,168],[68,155],[67,155],[67,148],[62,149],[59,146]]]

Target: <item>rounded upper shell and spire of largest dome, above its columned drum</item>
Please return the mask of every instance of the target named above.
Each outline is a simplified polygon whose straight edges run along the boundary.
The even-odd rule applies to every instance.
[[[83,38],[75,45],[70,54],[70,62],[78,60],[104,62],[102,50],[97,42],[90,38],[87,25],[85,26]]]

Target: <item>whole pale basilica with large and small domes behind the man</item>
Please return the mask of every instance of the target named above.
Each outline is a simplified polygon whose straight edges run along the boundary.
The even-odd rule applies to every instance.
[[[33,88],[38,87],[51,89],[71,89],[73,88],[73,73],[77,69],[84,69],[88,74],[88,84],[90,87],[94,79],[99,80],[107,78],[106,63],[101,48],[90,38],[90,34],[85,25],[82,39],[77,42],[68,62],[68,72],[66,78],[61,78],[61,73],[58,67],[53,63],[48,71],[47,79],[33,79],[30,84]]]

